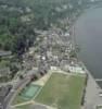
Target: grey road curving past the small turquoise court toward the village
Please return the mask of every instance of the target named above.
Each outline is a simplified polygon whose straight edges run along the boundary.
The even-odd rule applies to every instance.
[[[15,98],[15,96],[17,95],[17,93],[23,89],[26,84],[28,84],[30,82],[30,75],[36,74],[36,72],[34,70],[30,70],[25,78],[23,80],[15,80],[14,82],[12,81],[13,84],[13,88],[11,89],[10,94],[7,96],[4,102],[3,102],[3,109],[9,109],[11,102],[13,101],[13,99]]]

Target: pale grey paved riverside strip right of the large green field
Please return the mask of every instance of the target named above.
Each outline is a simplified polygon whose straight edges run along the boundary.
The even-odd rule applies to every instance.
[[[102,92],[102,89],[97,84],[95,80],[93,78],[91,73],[87,70],[84,63],[82,63],[82,68],[86,70],[88,74],[85,105],[82,109],[97,109],[97,106],[102,105],[102,97],[100,97],[100,92]]]

